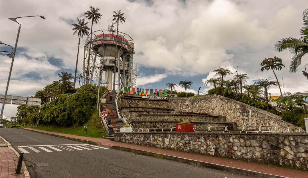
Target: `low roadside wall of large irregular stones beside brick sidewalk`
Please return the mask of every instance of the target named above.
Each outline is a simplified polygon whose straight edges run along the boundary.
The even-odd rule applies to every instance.
[[[307,134],[115,133],[115,141],[308,169]]]

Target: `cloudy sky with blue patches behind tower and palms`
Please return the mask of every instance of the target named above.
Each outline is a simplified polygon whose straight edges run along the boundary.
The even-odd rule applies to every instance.
[[[278,71],[284,81],[282,92],[307,91],[307,79],[301,72],[290,73],[292,55],[276,52],[274,43],[285,37],[299,37],[306,0],[19,0],[0,1],[0,41],[14,46],[18,24],[22,24],[8,94],[31,96],[45,85],[58,80],[58,73],[74,74],[78,37],[71,23],[84,18],[89,6],[100,8],[103,15],[94,30],[108,29],[113,10],[121,10],[126,22],[119,31],[135,42],[139,87],[165,89],[167,83],[193,81],[191,92],[207,91],[206,78],[213,70],[229,68],[249,73],[248,84],[257,78],[274,77],[261,72],[260,63],[278,56],[286,65]],[[83,39],[84,43],[86,38]],[[80,48],[78,73],[82,71],[83,47]],[[0,45],[0,51],[11,51]],[[308,57],[303,57],[299,71]],[[0,94],[4,94],[11,59],[0,53]],[[227,76],[226,79],[233,77]],[[184,89],[177,87],[177,91]],[[279,93],[272,87],[270,93]],[[272,96],[273,96],[272,95]],[[4,116],[16,115],[16,105],[6,105]]]

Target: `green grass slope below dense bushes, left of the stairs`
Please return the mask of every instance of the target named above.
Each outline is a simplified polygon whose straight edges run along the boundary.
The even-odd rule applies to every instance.
[[[39,125],[38,127],[32,127],[33,129],[41,129],[58,133],[67,133],[72,135],[87,136],[92,138],[99,138],[106,136],[103,129],[102,123],[99,120],[98,109],[91,115],[90,119],[87,121],[88,125],[87,134],[83,130],[83,125],[78,127],[63,127],[59,125]]]

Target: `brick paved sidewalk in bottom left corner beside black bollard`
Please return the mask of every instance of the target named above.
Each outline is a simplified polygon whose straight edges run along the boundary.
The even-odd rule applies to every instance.
[[[0,141],[0,144],[3,143]],[[23,178],[24,174],[14,175],[17,163],[18,157],[13,150],[7,146],[0,146],[0,178]]]

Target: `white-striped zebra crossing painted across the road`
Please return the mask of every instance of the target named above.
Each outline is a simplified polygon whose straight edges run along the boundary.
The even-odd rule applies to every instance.
[[[41,152],[63,152],[63,151],[75,151],[75,150],[100,150],[100,149],[108,149],[96,145],[90,144],[50,144],[50,145],[22,145],[17,146],[17,148],[23,153],[41,153]],[[31,151],[29,151],[29,149]]]

